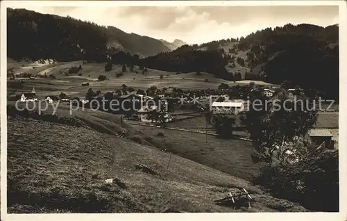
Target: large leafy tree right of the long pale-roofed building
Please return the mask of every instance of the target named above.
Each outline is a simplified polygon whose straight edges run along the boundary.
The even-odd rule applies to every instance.
[[[310,102],[305,95],[298,99]],[[253,90],[250,100],[253,106],[246,113],[244,123],[255,141],[253,159],[259,158],[259,161],[270,164],[278,161],[277,152],[286,151],[287,143],[305,136],[317,120],[316,111],[308,111],[306,104],[300,101],[296,104],[289,101],[284,89],[270,102],[266,102],[260,90]],[[255,106],[255,100],[262,105]]]

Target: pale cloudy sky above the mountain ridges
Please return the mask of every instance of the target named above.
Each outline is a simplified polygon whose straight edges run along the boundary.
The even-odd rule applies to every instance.
[[[20,8],[20,7],[19,7]],[[127,33],[188,44],[239,38],[285,24],[337,24],[338,6],[118,6],[26,7],[38,13],[75,17]]]

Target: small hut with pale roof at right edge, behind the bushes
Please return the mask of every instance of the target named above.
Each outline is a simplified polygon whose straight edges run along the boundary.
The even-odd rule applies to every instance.
[[[311,129],[308,131],[310,141],[315,145],[322,145],[328,149],[334,148],[334,142],[332,141],[332,133],[328,129]]]

